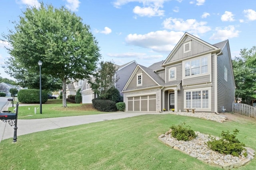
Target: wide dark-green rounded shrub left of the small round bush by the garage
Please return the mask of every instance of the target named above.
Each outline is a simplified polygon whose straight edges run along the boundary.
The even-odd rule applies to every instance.
[[[102,112],[115,112],[117,111],[116,102],[104,99],[92,99],[92,105],[95,109]]]

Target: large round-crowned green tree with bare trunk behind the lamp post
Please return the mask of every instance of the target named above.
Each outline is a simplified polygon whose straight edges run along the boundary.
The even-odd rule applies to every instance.
[[[38,73],[38,61],[42,61],[42,73],[62,81],[62,106],[66,107],[66,82],[89,79],[101,57],[98,42],[90,26],[64,7],[41,3],[40,8],[26,8],[22,14],[15,30],[4,36],[12,46],[7,69],[14,74]]]

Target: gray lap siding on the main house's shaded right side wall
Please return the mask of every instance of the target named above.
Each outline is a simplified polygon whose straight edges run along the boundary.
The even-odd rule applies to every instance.
[[[222,49],[223,54],[218,56],[218,112],[224,106],[226,111],[232,111],[232,102],[235,99],[234,79],[232,75],[232,63],[230,63],[228,43]],[[228,71],[228,81],[224,79],[224,68]]]

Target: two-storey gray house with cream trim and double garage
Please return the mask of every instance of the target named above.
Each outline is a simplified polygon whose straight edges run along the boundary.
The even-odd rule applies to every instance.
[[[232,111],[235,83],[229,42],[212,45],[185,33],[165,61],[137,65],[122,92],[126,111]]]

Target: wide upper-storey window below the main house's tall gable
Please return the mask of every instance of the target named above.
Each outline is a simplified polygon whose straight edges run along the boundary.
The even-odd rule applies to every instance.
[[[208,73],[208,57],[185,62],[185,76]]]

